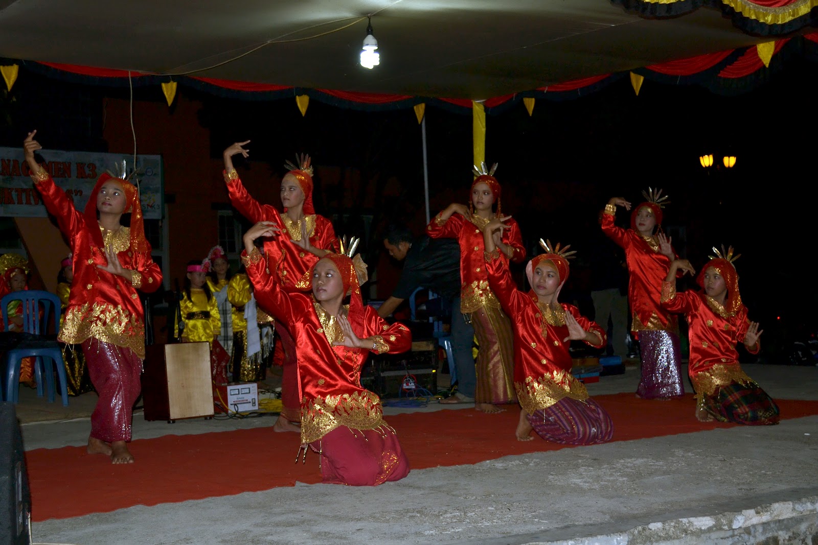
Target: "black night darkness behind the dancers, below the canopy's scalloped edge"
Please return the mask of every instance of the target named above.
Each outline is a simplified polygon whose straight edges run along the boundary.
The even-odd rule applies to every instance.
[[[581,306],[588,274],[582,253],[597,235],[597,212],[612,196],[638,203],[640,191],[651,186],[670,195],[663,226],[697,270],[713,245],[732,244],[743,254],[736,264],[742,298],[765,330],[767,360],[782,363],[784,343],[815,327],[808,263],[818,65],[795,57],[759,77],[766,81],[737,95],[645,80],[640,96],[621,78],[576,100],[537,100],[530,117],[521,103],[487,115],[486,158],[499,163],[503,211],[519,221],[529,252],[537,252],[540,237],[578,250],[572,292]],[[136,87],[134,99],[164,101],[157,87]],[[317,164],[360,172],[365,182],[354,187],[322,188],[317,178],[314,201],[325,216],[374,216],[367,261],[377,261],[376,230],[387,221],[423,229],[421,132],[411,108],[364,112],[313,99],[302,117],[292,98],[238,101],[182,86],[178,92],[202,103],[199,120],[210,131],[211,158],[249,139],[250,167],[269,162],[280,168],[296,152],[308,152]],[[20,146],[29,127],[37,127],[54,149],[106,151],[106,97],[127,98],[128,87],[28,74],[11,93],[0,93],[0,145]],[[472,122],[470,112],[427,105],[426,123],[434,215],[448,203],[466,202]],[[704,153],[714,154],[714,168],[700,166]],[[721,167],[723,154],[738,158],[735,168]],[[360,194],[374,194],[375,207],[362,208]],[[627,225],[627,213],[618,217]],[[357,227],[339,223],[339,234]]]

